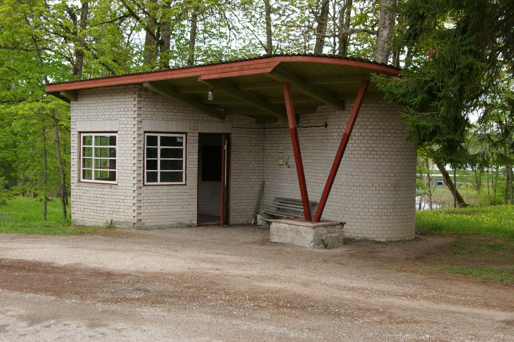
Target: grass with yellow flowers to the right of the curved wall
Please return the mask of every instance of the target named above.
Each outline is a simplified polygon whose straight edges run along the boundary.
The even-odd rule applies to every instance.
[[[514,284],[514,206],[418,211],[416,228],[427,235],[455,238],[446,251],[434,255],[432,269]]]

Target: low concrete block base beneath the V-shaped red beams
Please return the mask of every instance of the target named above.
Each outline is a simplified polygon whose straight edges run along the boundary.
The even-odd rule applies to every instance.
[[[343,245],[344,224],[338,221],[270,220],[269,240],[311,248],[338,247]]]

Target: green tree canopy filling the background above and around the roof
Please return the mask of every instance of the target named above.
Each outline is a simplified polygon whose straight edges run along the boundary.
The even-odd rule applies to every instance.
[[[0,183],[67,192],[69,107],[49,82],[266,53],[402,67],[378,81],[408,138],[466,163],[470,115],[494,121],[493,99],[512,93],[513,13],[508,0],[0,0]]]

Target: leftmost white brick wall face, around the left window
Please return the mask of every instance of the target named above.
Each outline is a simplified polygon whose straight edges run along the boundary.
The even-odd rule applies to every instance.
[[[75,224],[136,224],[136,88],[81,91],[71,103],[71,215]],[[79,133],[118,133],[118,184],[79,182]]]

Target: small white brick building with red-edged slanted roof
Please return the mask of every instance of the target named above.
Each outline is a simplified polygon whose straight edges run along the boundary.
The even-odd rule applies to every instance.
[[[279,56],[49,85],[49,94],[71,101],[72,220],[135,228],[248,224],[262,181],[260,209],[275,197],[302,198],[290,111],[280,103],[284,82],[306,192],[320,201],[359,84],[371,73],[397,70]],[[403,139],[397,111],[371,83],[322,211],[323,219],[346,222],[345,237],[414,238],[416,150]]]

